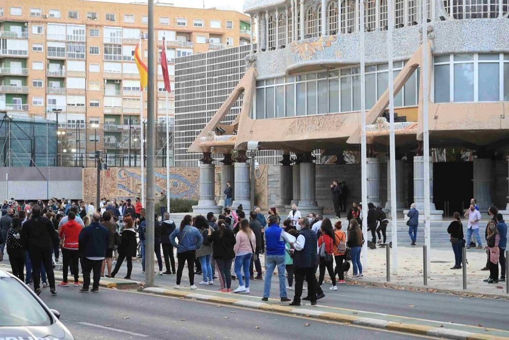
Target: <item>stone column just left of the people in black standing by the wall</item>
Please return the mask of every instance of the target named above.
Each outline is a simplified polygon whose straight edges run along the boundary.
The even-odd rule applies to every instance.
[[[300,200],[297,205],[302,216],[323,214],[323,206],[316,201],[316,165],[311,152],[304,152],[300,163]]]

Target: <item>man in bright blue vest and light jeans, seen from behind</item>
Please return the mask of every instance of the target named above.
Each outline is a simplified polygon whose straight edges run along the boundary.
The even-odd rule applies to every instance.
[[[290,301],[286,294],[285,284],[285,241],[293,244],[295,237],[279,227],[276,215],[269,218],[269,227],[265,228],[265,282],[262,301],[268,301],[272,274],[277,266],[279,276],[279,297],[281,302]],[[316,251],[316,250],[315,250]]]

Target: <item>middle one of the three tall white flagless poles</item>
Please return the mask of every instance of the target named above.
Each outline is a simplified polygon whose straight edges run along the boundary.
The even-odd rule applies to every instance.
[[[398,212],[396,197],[396,154],[394,139],[394,79],[393,79],[393,53],[392,32],[394,21],[392,17],[392,0],[387,1],[387,57],[389,61],[389,163],[390,163],[390,217],[392,240],[392,274],[398,274]],[[403,175],[403,174],[400,174]]]

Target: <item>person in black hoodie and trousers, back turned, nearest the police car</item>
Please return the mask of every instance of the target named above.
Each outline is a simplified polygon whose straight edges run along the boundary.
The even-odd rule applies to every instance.
[[[23,224],[21,230],[21,244],[29,252],[32,263],[32,278],[34,292],[41,294],[41,264],[46,269],[50,292],[56,295],[55,275],[51,259],[51,251],[56,245],[56,233],[50,220],[41,216],[41,207],[35,204],[32,207],[32,217]]]

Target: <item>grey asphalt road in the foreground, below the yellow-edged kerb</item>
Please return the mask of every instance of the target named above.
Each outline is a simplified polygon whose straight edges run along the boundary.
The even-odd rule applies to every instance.
[[[76,339],[422,338],[332,322],[327,324],[316,319],[109,289],[102,289],[98,294],[83,294],[77,288],[68,287],[59,289],[58,296],[50,296],[45,289],[41,298],[50,308],[61,312],[61,321]]]

